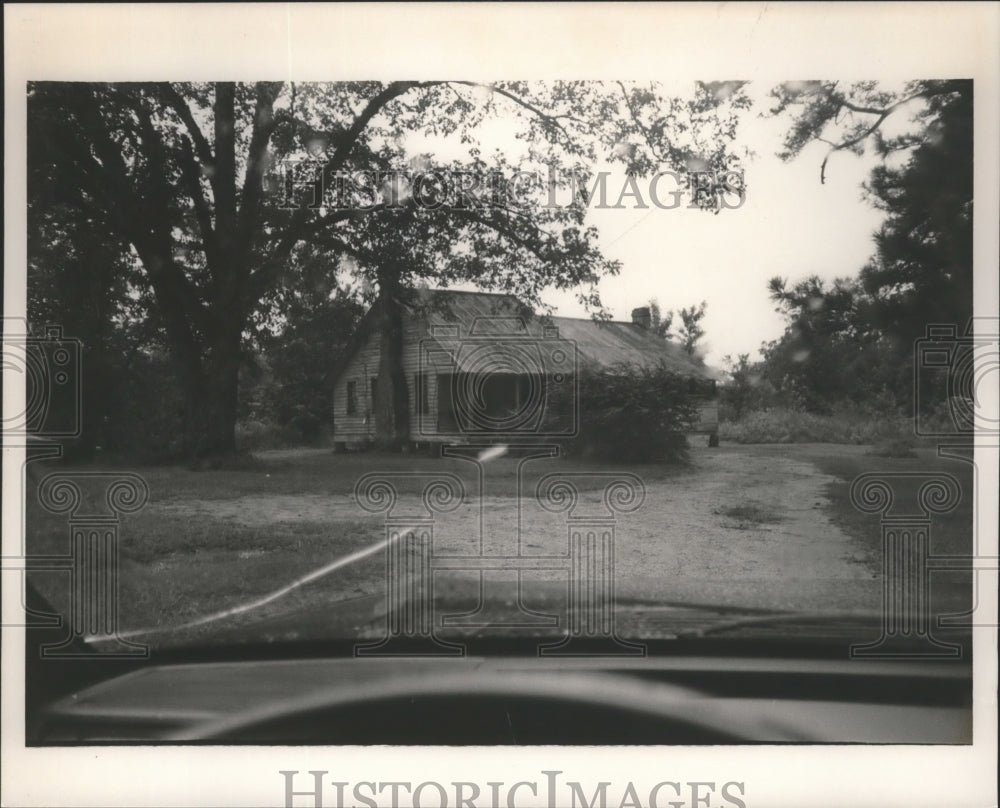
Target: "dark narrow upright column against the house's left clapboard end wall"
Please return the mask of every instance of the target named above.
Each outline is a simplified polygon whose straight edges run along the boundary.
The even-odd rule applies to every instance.
[[[379,278],[379,369],[375,436],[380,448],[398,451],[410,439],[410,398],[403,367],[402,289],[395,277]]]

